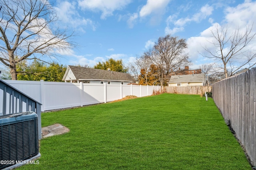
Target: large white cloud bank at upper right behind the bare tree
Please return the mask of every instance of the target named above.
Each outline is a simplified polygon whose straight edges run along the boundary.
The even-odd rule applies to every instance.
[[[255,22],[256,18],[256,2],[246,1],[242,4],[239,4],[236,7],[226,7],[225,8],[225,16],[224,20],[221,22],[222,25],[219,23],[213,23],[212,26],[207,28],[206,30],[202,31],[200,33],[200,36],[198,37],[191,37],[188,38],[188,52],[191,56],[191,59],[194,63],[210,63],[213,62],[212,59],[209,59],[207,57],[202,57],[199,53],[203,55],[209,55],[209,53],[206,52],[204,49],[207,47],[210,51],[218,51],[214,44],[211,42],[214,41],[214,38],[212,38],[212,32],[216,30],[216,26],[218,28],[224,27],[228,28],[228,32],[226,37],[229,37],[232,33],[234,33],[237,28],[239,28],[239,31],[242,33],[244,30],[246,30],[246,27],[252,27],[252,33],[256,32],[256,25],[254,26],[253,23]],[[210,20],[210,22],[213,22],[213,20]],[[255,23],[254,23],[255,24]],[[256,51],[256,40],[252,40],[251,44],[246,46],[245,49],[252,49],[254,52]],[[227,53],[229,51],[228,46],[223,49],[223,53]],[[240,62],[242,62],[242,58],[244,56],[240,56]]]

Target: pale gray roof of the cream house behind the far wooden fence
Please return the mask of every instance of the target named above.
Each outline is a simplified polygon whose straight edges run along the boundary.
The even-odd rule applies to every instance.
[[[168,83],[205,82],[205,74],[172,75]]]

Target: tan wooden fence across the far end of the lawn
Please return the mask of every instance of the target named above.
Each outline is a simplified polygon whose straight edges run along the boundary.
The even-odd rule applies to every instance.
[[[166,93],[178,93],[188,95],[204,95],[205,92],[211,92],[211,86],[166,86],[164,87]]]

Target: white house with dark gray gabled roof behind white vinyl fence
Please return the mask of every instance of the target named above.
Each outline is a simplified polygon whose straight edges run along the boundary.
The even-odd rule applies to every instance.
[[[68,65],[62,81],[71,83],[129,84],[136,80],[128,73]]]

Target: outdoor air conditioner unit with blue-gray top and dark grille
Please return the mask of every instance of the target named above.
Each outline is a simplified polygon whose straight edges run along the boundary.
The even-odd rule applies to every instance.
[[[38,116],[34,112],[0,116],[0,169],[39,153]],[[10,162],[13,161],[13,162]]]

